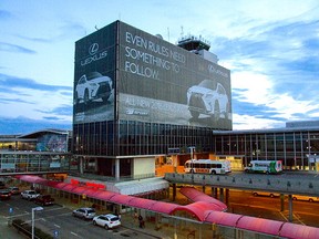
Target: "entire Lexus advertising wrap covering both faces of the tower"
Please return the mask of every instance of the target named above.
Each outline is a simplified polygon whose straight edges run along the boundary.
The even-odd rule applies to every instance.
[[[119,115],[230,129],[230,72],[116,21],[76,42],[73,112],[75,124]]]

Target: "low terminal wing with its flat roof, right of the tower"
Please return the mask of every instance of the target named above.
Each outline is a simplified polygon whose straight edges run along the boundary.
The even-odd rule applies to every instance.
[[[282,160],[286,170],[319,172],[319,121],[290,122],[286,128],[214,132],[219,158]]]

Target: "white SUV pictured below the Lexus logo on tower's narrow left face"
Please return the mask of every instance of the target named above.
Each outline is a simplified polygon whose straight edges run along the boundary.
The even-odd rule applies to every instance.
[[[100,72],[91,72],[80,77],[75,86],[74,103],[88,104],[94,100],[102,98],[106,102],[112,93],[112,80]]]

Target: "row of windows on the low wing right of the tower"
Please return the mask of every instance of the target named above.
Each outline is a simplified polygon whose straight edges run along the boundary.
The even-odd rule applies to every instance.
[[[215,135],[218,155],[241,155],[244,163],[251,159],[281,159],[284,167],[305,169],[308,155],[319,154],[319,132]]]

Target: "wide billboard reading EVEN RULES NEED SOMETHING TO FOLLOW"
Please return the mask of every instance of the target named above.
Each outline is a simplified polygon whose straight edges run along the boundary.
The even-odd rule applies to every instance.
[[[230,72],[120,22],[119,118],[231,129]]]

